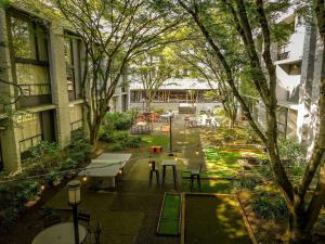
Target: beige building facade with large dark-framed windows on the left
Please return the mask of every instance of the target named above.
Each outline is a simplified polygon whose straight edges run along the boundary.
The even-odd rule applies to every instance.
[[[84,51],[58,22],[13,7],[0,9],[0,78],[13,84],[0,82],[0,95],[10,101],[0,107],[0,169],[13,172],[30,146],[46,140],[65,147],[84,126]],[[116,111],[127,107],[119,105],[127,100],[121,91]]]

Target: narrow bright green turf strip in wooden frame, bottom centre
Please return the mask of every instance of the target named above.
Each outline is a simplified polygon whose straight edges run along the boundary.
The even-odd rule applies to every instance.
[[[178,235],[180,233],[181,195],[166,193],[157,233]]]

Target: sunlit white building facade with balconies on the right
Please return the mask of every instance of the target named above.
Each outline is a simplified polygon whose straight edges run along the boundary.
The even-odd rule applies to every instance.
[[[290,10],[281,20],[292,26],[286,43],[273,43],[276,65],[277,130],[280,137],[313,147],[322,74],[322,41],[315,26],[299,20]],[[253,117],[265,127],[265,108],[260,100],[247,98]]]

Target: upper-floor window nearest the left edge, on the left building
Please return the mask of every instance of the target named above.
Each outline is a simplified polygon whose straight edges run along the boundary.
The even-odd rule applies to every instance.
[[[8,24],[14,77],[23,94],[51,94],[47,28],[37,20],[12,12]]]

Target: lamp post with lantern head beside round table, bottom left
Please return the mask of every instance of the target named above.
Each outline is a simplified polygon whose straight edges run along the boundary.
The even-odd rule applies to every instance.
[[[79,244],[79,226],[78,226],[78,205],[80,204],[80,188],[79,180],[72,180],[67,184],[68,188],[68,204],[73,206],[74,228],[75,228],[75,244]]]

